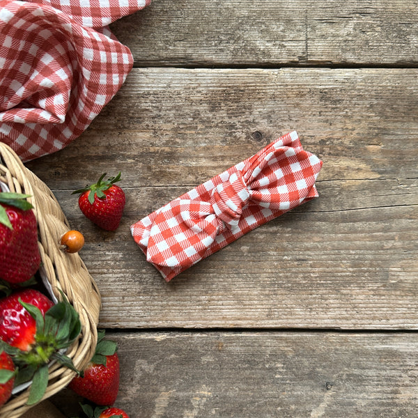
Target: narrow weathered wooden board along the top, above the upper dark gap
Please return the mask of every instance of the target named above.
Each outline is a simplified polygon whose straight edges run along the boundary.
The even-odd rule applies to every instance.
[[[153,0],[111,25],[137,66],[417,65],[415,0]]]

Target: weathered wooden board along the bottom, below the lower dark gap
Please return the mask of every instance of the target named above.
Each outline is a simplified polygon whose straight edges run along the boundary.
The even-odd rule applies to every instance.
[[[417,334],[151,332],[118,341],[131,418],[415,417]],[[53,398],[68,417],[78,398]]]

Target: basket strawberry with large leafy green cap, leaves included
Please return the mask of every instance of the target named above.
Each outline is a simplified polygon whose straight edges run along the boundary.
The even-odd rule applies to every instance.
[[[49,362],[75,370],[63,350],[78,338],[82,325],[64,296],[62,302],[53,304],[42,293],[26,288],[4,297],[0,300],[0,330],[0,350],[6,351],[19,369],[15,385],[31,381],[27,405],[37,403],[45,394]]]

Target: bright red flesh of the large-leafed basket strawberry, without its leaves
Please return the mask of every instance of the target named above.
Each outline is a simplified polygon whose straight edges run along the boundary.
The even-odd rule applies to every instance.
[[[29,351],[35,342],[36,320],[20,304],[19,299],[38,307],[42,316],[45,316],[54,302],[43,293],[31,288],[0,299],[0,339],[10,346]]]

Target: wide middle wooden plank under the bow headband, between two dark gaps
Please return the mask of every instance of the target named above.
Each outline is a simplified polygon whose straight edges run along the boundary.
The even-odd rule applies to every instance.
[[[134,69],[82,137],[28,164],[86,235],[100,325],[417,329],[417,72]],[[130,224],[293,129],[324,161],[320,198],[164,283]],[[112,168],[127,206],[105,233],[70,191]]]

